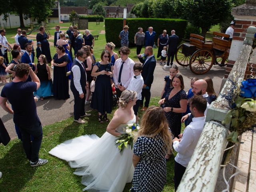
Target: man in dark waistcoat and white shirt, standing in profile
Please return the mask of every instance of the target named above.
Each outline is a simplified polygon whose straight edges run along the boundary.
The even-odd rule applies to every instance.
[[[86,59],[86,52],[78,50],[76,58],[71,67],[70,89],[74,95],[74,121],[78,123],[85,123],[82,117],[90,116],[84,111],[86,86],[86,72],[84,61]]]

